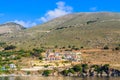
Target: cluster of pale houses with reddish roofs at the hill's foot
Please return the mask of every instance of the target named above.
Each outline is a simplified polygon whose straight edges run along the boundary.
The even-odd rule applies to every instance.
[[[69,60],[69,61],[81,61],[81,52],[46,52],[45,60],[46,61],[55,61],[55,60]]]

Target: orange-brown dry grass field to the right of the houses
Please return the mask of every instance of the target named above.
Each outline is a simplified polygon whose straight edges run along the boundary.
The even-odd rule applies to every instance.
[[[110,64],[111,67],[120,68],[120,51],[84,50],[82,57],[89,64]]]

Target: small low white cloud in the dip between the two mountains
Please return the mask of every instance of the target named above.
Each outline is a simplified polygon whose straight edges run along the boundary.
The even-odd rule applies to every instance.
[[[31,21],[23,21],[23,20],[15,20],[15,21],[13,21],[13,22],[15,22],[15,23],[18,23],[18,24],[20,24],[20,25],[22,25],[22,26],[24,26],[24,27],[26,27],[26,28],[30,28],[30,27],[33,27],[33,26],[36,26],[37,25],[37,23],[35,23],[35,22],[31,22]]]

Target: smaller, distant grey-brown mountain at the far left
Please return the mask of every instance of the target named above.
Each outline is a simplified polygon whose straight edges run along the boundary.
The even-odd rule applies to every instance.
[[[24,27],[20,24],[9,22],[0,25],[0,34],[8,34],[23,30]]]

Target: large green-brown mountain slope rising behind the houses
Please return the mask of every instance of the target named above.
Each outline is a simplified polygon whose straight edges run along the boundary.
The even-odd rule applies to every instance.
[[[34,47],[114,47],[120,44],[120,13],[73,13],[19,33],[0,36],[1,41],[19,48]]]

